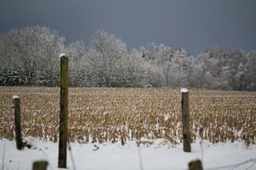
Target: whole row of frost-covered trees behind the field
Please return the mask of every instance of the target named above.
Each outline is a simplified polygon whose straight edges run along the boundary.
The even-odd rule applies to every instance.
[[[0,35],[1,86],[57,86],[58,55],[69,56],[73,87],[170,87],[256,90],[256,50],[226,53],[209,47],[199,55],[149,43],[128,49],[97,30],[90,46],[65,44],[56,30],[31,26]]]

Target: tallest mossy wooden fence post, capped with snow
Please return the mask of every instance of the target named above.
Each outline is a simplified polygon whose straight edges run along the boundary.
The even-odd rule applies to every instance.
[[[68,104],[68,59],[65,54],[60,57],[60,100],[59,100],[59,141],[58,167],[66,168],[67,147],[67,104]]]

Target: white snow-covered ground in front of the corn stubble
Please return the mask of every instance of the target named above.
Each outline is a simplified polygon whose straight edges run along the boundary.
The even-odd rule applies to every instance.
[[[56,170],[57,143],[37,139],[30,141],[36,149],[19,151],[14,141],[0,140],[1,168],[31,170],[34,160],[43,159],[49,161],[49,170]],[[76,170],[178,170],[188,169],[188,163],[197,158],[203,160],[204,169],[220,169],[218,167],[221,166],[228,166],[221,169],[256,169],[256,146],[246,147],[241,142],[210,144],[204,141],[200,145],[197,141],[191,145],[191,153],[183,152],[181,144],[172,146],[164,140],[155,140],[153,145],[140,145],[139,148],[135,141],[125,146],[120,143],[71,143],[71,147]],[[245,161],[248,163],[238,165]],[[74,167],[69,151],[67,166],[68,169]]]

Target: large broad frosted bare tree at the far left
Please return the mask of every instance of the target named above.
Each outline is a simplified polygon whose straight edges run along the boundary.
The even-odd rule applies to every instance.
[[[64,38],[57,31],[40,26],[10,30],[0,44],[1,58],[26,85],[46,85],[45,81],[56,79],[58,54],[64,49]]]

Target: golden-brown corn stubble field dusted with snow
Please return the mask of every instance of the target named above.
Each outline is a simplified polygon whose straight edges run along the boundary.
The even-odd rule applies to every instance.
[[[0,88],[0,137],[14,139],[12,96],[21,97],[22,133],[57,141],[57,88]],[[71,142],[181,142],[179,89],[69,89]],[[256,93],[190,90],[191,140],[256,142]]]

